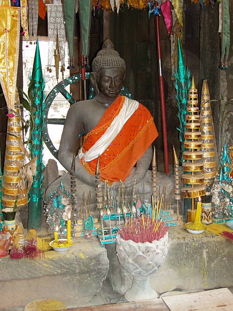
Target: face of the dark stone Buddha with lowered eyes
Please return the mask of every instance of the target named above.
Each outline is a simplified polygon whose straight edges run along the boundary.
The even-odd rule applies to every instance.
[[[122,87],[124,70],[121,68],[102,68],[97,73],[97,87],[106,97],[116,97]]]

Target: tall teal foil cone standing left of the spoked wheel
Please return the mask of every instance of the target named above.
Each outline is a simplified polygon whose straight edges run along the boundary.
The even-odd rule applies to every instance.
[[[36,53],[30,83],[28,85],[28,97],[32,108],[35,108],[33,117],[30,118],[30,156],[31,159],[37,157],[36,174],[33,176],[32,185],[29,191],[29,212],[28,228],[39,229],[41,225],[42,195],[43,195],[43,169],[42,163],[42,129],[43,129],[43,110],[44,110],[44,90],[45,81],[41,68],[41,56],[39,43],[37,40]]]

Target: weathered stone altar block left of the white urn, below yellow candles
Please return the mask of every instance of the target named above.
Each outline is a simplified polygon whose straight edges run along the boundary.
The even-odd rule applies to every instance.
[[[65,253],[45,252],[45,259],[0,259],[1,311],[37,299],[82,301],[89,304],[106,279],[109,261],[98,240],[74,238]],[[78,305],[77,305],[78,306]]]

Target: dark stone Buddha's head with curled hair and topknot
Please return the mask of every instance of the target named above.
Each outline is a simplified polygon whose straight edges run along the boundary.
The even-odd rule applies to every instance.
[[[90,80],[95,94],[105,97],[116,97],[122,87],[125,76],[125,61],[114,50],[112,42],[107,39],[101,51],[92,61]]]

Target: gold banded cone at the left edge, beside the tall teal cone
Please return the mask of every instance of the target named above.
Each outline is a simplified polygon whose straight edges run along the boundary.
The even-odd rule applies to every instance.
[[[19,174],[19,166],[25,164],[25,154],[21,150],[20,144],[22,144],[22,124],[20,119],[20,108],[17,107],[19,104],[19,96],[16,93],[15,96],[14,111],[17,113],[14,117],[8,117],[8,128],[7,133],[12,135],[7,135],[6,141],[6,155],[4,163],[4,178],[3,178],[3,197],[2,203],[4,207],[13,207],[15,204],[16,197],[18,195],[18,186],[21,180]],[[21,188],[21,197],[18,197],[17,206],[22,206],[27,204],[28,196],[26,185]]]

